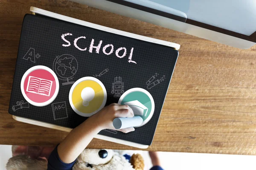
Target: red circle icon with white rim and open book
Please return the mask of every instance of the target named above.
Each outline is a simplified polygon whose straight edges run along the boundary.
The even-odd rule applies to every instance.
[[[58,95],[59,82],[50,68],[37,65],[25,72],[20,88],[27,102],[35,106],[45,106]]]

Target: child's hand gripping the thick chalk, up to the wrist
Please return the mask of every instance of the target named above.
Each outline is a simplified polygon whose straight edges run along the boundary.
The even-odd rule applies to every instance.
[[[101,129],[113,129],[116,130],[115,127],[113,127],[113,120],[116,117],[133,117],[134,112],[128,105],[119,105],[117,103],[112,103],[111,105],[106,106],[102,110],[100,110],[98,113],[94,114],[93,116],[90,116],[89,119],[93,119],[93,121],[96,123],[96,125],[99,125]],[[134,127],[129,127],[125,129],[120,129],[119,131],[128,133],[131,131],[134,131]]]

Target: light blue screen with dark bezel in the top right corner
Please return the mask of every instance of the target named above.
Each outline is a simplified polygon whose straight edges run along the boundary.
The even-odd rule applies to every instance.
[[[152,14],[256,42],[256,1],[108,0]]]

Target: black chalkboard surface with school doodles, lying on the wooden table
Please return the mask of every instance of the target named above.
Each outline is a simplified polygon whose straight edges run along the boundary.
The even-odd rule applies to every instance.
[[[78,37],[86,38],[80,38],[75,46],[74,40]],[[102,41],[99,53],[96,48],[93,48],[92,52],[89,51],[92,39],[95,45]],[[110,51],[105,50],[105,53],[103,52],[103,47],[108,44],[113,45],[114,49],[114,52],[109,55],[105,53],[110,53]],[[87,50],[81,51],[77,47],[82,50],[87,48]],[[125,47],[127,53],[124,57],[121,57],[122,51],[124,51],[122,48],[122,51],[117,54],[119,57],[117,57],[115,51],[121,47]],[[130,58],[131,51],[132,58]],[[27,53],[32,55],[32,60],[24,59]],[[27,104],[20,90],[20,81],[23,74],[35,65],[44,65],[54,70],[53,65],[56,57],[64,54],[72,55],[76,59],[78,68],[75,74],[67,76],[67,79],[59,77],[58,96],[51,104],[44,107]],[[20,36],[9,113],[28,119],[74,128],[87,118],[79,116],[72,110],[68,99],[72,84],[67,83],[65,85],[65,82],[76,81],[86,76],[96,77],[105,85],[107,91],[106,105],[109,105],[113,102],[117,103],[119,100],[119,97],[111,94],[111,90],[115,77],[121,77],[124,83],[124,91],[131,88],[144,88],[153,96],[155,102],[154,115],[147,124],[136,128],[134,132],[122,133],[113,130],[102,130],[99,134],[150,145],[177,57],[178,51],[171,47],[112,34],[50,17],[26,14]],[[108,71],[104,75],[97,77],[106,69]],[[164,76],[165,79],[148,89],[146,82],[154,75]],[[62,112],[61,115],[54,113],[52,110],[52,107],[58,105],[58,103],[66,106],[66,111]],[[63,119],[58,119],[58,116]]]

